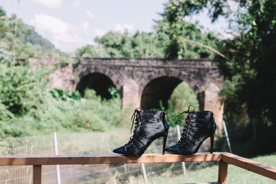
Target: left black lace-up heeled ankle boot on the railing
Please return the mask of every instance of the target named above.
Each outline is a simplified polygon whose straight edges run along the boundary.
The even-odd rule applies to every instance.
[[[141,154],[144,154],[152,141],[163,136],[162,153],[164,154],[168,136],[166,112],[141,110],[141,108],[137,108],[132,115],[131,120],[132,127],[135,125],[133,136],[130,137],[130,141],[126,145],[118,147],[113,150],[113,152],[124,154],[126,156],[140,156]]]

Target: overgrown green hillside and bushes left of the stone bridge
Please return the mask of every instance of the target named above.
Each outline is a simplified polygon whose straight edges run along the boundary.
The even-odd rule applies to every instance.
[[[32,69],[15,60],[63,55],[15,15],[0,8],[0,137],[30,136],[52,132],[103,131],[121,123],[121,99],[112,91],[109,101],[93,90],[50,90],[46,69]],[[14,35],[15,21],[17,32]],[[15,37],[14,37],[15,36]],[[14,44],[14,38],[16,44]],[[62,68],[62,60],[55,68]],[[111,89],[112,90],[112,89]]]

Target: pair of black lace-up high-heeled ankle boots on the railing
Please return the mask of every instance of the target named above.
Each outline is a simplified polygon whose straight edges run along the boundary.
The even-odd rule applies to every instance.
[[[191,107],[193,111],[190,110]],[[126,156],[140,156],[144,154],[152,141],[163,137],[162,154],[165,154],[165,151],[172,154],[194,154],[199,150],[201,143],[210,137],[210,153],[213,153],[214,134],[217,128],[213,112],[196,112],[195,107],[189,105],[188,111],[180,114],[183,113],[188,115],[181,139],[175,145],[165,149],[169,128],[166,112],[137,108],[131,117],[132,127],[135,125],[133,136],[126,145],[118,147],[113,152]]]

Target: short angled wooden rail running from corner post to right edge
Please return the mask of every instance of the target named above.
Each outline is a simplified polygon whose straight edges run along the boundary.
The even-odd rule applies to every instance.
[[[232,165],[236,165],[237,167],[242,167],[244,170],[248,170],[251,172],[255,172],[262,176],[266,176],[268,178],[272,178],[276,180],[276,168],[270,167],[268,165],[264,165],[262,163],[258,163],[256,161],[252,161],[241,156],[237,156],[235,154],[230,154],[224,152],[221,154],[221,160],[230,163]]]

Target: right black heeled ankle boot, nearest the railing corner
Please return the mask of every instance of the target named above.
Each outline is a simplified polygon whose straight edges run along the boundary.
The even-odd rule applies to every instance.
[[[193,107],[193,111],[190,111]],[[199,150],[201,143],[210,137],[210,153],[213,153],[214,134],[217,128],[211,111],[195,112],[195,107],[189,105],[187,113],[186,125],[181,139],[170,147],[166,148],[166,152],[173,154],[194,154]],[[179,114],[180,115],[180,114]]]

